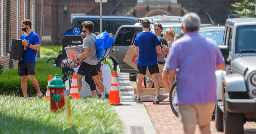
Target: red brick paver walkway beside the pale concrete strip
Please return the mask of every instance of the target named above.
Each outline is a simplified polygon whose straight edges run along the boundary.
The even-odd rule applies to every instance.
[[[129,75],[128,75],[129,77]],[[136,82],[131,81],[132,86],[136,88]],[[160,102],[153,104],[152,102],[143,102],[148,115],[154,125],[157,134],[183,134],[183,125],[180,124],[179,118],[172,113],[170,103]],[[210,123],[210,130],[212,134],[223,134],[215,129],[214,118]],[[200,133],[199,127],[196,126],[196,132]],[[244,124],[244,134],[256,134],[256,123],[246,122]]]

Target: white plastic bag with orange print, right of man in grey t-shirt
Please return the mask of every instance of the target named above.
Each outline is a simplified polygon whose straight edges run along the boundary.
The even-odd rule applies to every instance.
[[[100,80],[103,83],[105,94],[109,94],[111,81],[112,81],[112,75],[111,70],[108,64],[104,64],[100,67]]]

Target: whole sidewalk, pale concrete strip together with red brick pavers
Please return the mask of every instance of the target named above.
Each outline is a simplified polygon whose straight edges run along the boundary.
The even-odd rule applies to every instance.
[[[117,73],[118,89],[120,101],[123,106],[116,106],[118,115],[121,117],[126,134],[183,134],[183,125],[179,123],[170,107],[170,103],[143,102],[136,104],[132,101],[131,94],[136,87],[135,81],[129,80],[126,73]],[[128,75],[128,76],[127,76]],[[135,127],[134,127],[135,126]],[[212,118],[210,122],[212,134],[223,134],[215,129],[215,121]],[[143,132],[144,131],[144,132]],[[198,125],[195,133],[200,133]],[[244,124],[244,134],[256,134],[256,123],[246,122]]]

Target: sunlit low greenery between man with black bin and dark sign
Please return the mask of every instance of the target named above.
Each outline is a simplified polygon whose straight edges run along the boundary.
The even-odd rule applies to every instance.
[[[62,50],[62,46],[42,46],[40,47],[40,57],[57,57]]]

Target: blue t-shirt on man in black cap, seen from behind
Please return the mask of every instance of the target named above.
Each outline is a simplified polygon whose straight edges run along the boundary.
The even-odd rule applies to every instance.
[[[140,32],[134,40],[134,45],[140,48],[138,65],[152,66],[157,64],[156,46],[159,45],[159,42],[155,33]]]

